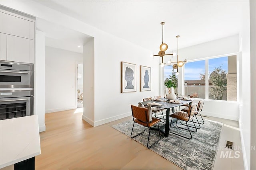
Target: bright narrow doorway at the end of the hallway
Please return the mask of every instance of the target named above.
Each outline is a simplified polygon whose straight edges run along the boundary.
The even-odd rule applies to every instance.
[[[83,64],[77,64],[77,108],[83,107],[84,90],[83,90]]]

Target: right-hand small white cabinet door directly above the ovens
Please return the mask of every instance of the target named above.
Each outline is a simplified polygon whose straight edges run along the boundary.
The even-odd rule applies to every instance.
[[[34,64],[34,40],[7,35],[7,61]]]

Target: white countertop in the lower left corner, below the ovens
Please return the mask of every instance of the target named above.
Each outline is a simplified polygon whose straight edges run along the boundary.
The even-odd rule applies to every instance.
[[[38,115],[0,120],[0,168],[40,153]]]

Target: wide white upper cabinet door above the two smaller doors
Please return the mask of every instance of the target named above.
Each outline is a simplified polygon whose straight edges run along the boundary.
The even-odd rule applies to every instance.
[[[34,22],[0,12],[0,32],[34,40]]]

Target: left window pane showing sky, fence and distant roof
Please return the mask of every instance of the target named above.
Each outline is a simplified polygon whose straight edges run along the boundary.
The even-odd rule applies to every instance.
[[[205,99],[205,61],[194,61],[184,66],[184,95]]]

